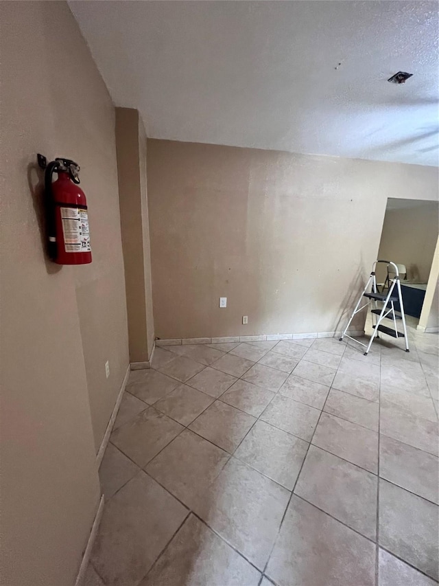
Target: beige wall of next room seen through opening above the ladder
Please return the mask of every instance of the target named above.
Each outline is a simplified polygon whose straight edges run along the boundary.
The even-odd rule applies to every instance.
[[[438,232],[437,203],[386,210],[378,256],[405,264],[407,279],[426,283]]]

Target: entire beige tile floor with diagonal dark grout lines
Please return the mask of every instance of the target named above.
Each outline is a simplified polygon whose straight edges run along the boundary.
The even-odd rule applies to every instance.
[[[393,343],[395,342],[395,343]],[[438,335],[156,348],[86,586],[433,586]]]

